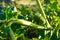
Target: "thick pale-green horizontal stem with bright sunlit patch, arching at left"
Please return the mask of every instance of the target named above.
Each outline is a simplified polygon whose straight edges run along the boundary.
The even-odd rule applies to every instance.
[[[34,28],[37,28],[37,29],[45,29],[44,26],[37,25],[37,24],[34,24],[34,23],[30,22],[30,21],[26,21],[26,20],[23,20],[23,19],[11,19],[8,22],[8,25],[11,26],[11,24],[13,24],[13,23],[20,23],[22,25],[34,27]],[[51,29],[51,28],[48,28],[48,29]]]

